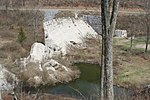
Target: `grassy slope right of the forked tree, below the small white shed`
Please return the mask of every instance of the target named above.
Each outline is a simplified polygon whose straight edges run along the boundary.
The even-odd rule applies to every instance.
[[[122,39],[115,43],[114,47],[118,50],[116,50],[114,56],[117,56],[117,58],[120,59],[120,64],[117,66],[118,71],[114,77],[117,84],[140,87],[149,83],[149,51],[148,53],[144,53],[144,49],[136,48],[136,45],[138,44],[144,44],[143,37],[133,40],[133,48],[131,50],[129,50],[130,40],[127,41]],[[123,53],[118,53],[120,51]]]

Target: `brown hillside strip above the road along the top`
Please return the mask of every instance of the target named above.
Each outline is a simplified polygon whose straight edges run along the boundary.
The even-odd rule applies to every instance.
[[[122,8],[143,8],[145,0],[121,0]],[[0,6],[8,7],[97,7],[99,8],[100,0],[1,0]]]

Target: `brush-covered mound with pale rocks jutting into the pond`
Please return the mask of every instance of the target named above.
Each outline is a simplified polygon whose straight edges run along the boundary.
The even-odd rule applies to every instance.
[[[79,75],[78,71],[72,71],[70,68],[58,63],[53,59],[42,62],[40,70],[38,62],[30,62],[25,67],[22,74],[24,79],[32,86],[45,84],[56,84],[69,82]]]

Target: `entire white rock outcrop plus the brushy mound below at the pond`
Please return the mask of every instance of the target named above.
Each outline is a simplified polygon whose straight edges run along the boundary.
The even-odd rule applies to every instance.
[[[67,45],[82,45],[82,38],[96,36],[90,25],[81,19],[61,18],[44,22],[45,45],[34,43],[30,55],[20,59],[21,72],[31,86],[69,82],[79,77],[78,70],[72,70],[52,59],[65,55]]]

